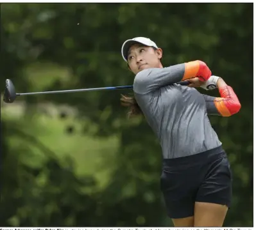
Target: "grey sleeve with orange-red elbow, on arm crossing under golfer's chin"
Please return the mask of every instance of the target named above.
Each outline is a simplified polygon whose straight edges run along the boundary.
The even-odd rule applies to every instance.
[[[155,89],[200,77],[207,81],[211,75],[210,69],[202,61],[191,61],[166,68],[148,68],[137,73],[133,82],[133,91],[146,94]]]

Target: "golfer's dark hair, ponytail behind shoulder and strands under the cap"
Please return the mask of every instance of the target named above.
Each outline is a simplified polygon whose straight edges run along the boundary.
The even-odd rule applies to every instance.
[[[143,45],[142,45],[143,46]],[[155,47],[152,47],[154,50],[157,50]],[[160,61],[162,60],[162,58],[160,59]],[[130,68],[130,66],[127,63],[128,68]],[[128,111],[128,118],[132,118],[134,116],[138,116],[143,114],[141,111],[141,108],[139,107],[139,105],[137,104],[137,101],[135,99],[135,96],[133,94],[130,94],[130,96],[128,95],[121,95],[121,105],[123,105],[124,107],[128,107],[129,111]]]

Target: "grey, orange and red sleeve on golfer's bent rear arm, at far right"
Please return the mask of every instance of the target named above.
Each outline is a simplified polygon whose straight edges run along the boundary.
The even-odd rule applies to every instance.
[[[207,114],[228,117],[239,112],[241,104],[230,86],[219,88],[219,93],[221,97],[203,95],[206,102]]]

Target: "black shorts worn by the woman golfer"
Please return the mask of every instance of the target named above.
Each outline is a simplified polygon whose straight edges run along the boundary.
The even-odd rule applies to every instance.
[[[164,159],[160,184],[171,218],[193,216],[196,201],[230,208],[232,172],[221,147],[188,157]]]

